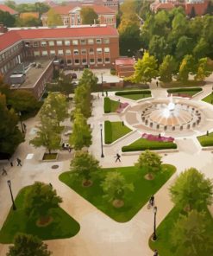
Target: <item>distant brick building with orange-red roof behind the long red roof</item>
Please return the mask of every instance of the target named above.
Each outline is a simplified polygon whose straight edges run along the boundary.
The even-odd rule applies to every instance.
[[[80,10],[83,7],[90,7],[98,16],[100,24],[107,24],[116,28],[116,10],[112,10],[107,6],[89,4],[89,3],[72,3],[69,5],[55,6],[52,9],[58,13],[65,26],[81,25]],[[41,16],[43,26],[47,26],[47,13]]]

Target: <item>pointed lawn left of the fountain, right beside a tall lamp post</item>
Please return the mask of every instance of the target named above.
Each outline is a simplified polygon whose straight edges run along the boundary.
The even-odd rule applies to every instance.
[[[122,122],[104,122],[104,141],[105,144],[111,144],[118,138],[128,134],[132,131],[126,125],[122,125]]]

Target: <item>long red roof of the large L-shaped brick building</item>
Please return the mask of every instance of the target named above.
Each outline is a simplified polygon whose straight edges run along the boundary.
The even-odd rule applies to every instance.
[[[20,29],[11,30],[0,35],[0,51],[21,40],[30,39],[63,39],[77,37],[97,37],[97,36],[118,36],[115,28],[106,25],[85,25],[72,28],[55,28],[55,29]]]

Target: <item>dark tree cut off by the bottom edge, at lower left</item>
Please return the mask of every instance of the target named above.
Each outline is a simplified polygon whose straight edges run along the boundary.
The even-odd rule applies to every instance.
[[[31,234],[16,234],[14,246],[9,246],[7,256],[50,256],[52,253],[47,250],[37,236]]]

